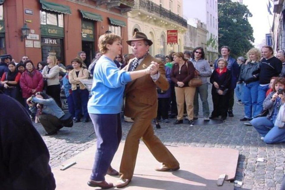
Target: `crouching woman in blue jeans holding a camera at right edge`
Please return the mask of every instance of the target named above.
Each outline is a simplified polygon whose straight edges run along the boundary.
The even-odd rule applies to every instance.
[[[274,82],[273,92],[271,92],[263,102],[263,108],[268,110],[266,117],[254,118],[251,120],[252,126],[262,136],[261,139],[267,143],[281,143],[285,141],[285,129],[281,116],[284,111],[284,89],[285,78],[277,77]]]

